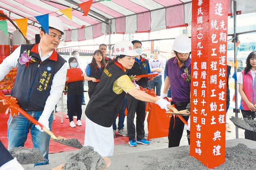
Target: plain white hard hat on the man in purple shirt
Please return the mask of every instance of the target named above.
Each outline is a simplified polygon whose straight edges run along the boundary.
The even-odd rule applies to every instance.
[[[186,35],[179,35],[174,39],[172,49],[178,53],[190,53],[191,40]]]

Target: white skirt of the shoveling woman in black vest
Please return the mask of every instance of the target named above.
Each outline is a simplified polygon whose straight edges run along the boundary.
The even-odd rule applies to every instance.
[[[102,157],[114,154],[114,136],[112,126],[107,128],[91,121],[85,116],[85,146],[92,146]]]

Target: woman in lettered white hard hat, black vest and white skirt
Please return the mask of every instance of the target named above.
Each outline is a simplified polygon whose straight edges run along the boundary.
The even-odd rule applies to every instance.
[[[101,156],[112,156],[114,137],[112,124],[116,120],[126,93],[138,100],[154,102],[162,109],[169,110],[170,103],[159,97],[150,96],[138,90],[130,77],[125,74],[134,63],[137,54],[133,44],[127,40],[119,41],[114,46],[115,59],[110,61],[100,77],[91,99],[86,107],[85,143],[94,147]]]

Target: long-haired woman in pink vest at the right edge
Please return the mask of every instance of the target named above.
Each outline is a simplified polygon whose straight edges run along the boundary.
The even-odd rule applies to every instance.
[[[241,95],[240,110],[244,119],[253,120],[256,112],[256,51],[252,51],[246,59],[246,67],[238,77],[239,93]],[[245,130],[246,139],[256,141],[256,132]]]

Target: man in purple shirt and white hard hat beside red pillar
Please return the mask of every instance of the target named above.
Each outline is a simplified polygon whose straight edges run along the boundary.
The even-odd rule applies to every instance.
[[[167,76],[165,78],[164,91],[160,97],[167,96],[167,91],[171,86],[171,104],[174,104],[177,110],[185,110],[187,104],[190,103],[190,78],[185,79],[183,77],[185,76],[184,73],[186,75],[191,73],[191,59],[189,57],[191,54],[191,40],[185,35],[179,35],[175,38],[172,49],[176,57],[169,59],[166,63]],[[183,77],[181,77],[182,74]],[[188,117],[183,116],[186,121],[188,121]],[[169,147],[180,145],[183,129],[183,122],[177,116],[175,118],[171,117],[168,135]],[[189,135],[190,131],[187,130],[187,134]],[[190,144],[189,138],[188,144]]]

